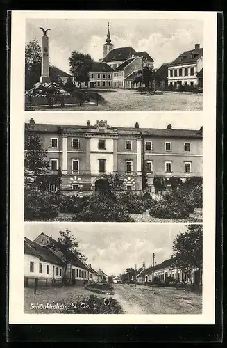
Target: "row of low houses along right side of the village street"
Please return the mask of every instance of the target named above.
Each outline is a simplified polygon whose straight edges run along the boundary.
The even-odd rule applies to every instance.
[[[169,258],[160,264],[155,264],[154,267],[151,266],[142,269],[142,271],[137,274],[137,283],[152,283],[153,279],[159,283],[166,283],[167,278],[171,278],[178,283],[201,285],[201,275],[198,268],[194,268],[190,272],[185,273],[177,269],[174,262],[176,262],[176,258]]]

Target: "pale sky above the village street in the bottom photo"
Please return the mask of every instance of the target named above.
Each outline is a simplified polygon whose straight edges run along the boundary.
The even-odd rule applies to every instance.
[[[124,273],[135,265],[146,267],[171,258],[173,241],[179,232],[187,229],[183,224],[150,223],[26,223],[25,237],[34,240],[41,232],[58,239],[58,232],[68,228],[78,239],[79,250],[87,257],[87,264],[101,268],[108,276]]]

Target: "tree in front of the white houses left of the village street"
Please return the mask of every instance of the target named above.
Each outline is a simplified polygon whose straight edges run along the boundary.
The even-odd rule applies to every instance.
[[[64,270],[62,275],[62,285],[67,283],[67,267],[75,258],[83,258],[83,254],[78,251],[78,240],[72,235],[72,232],[66,228],[65,231],[59,231],[58,240],[49,239],[47,247],[53,253],[60,254],[61,260],[64,262]]]

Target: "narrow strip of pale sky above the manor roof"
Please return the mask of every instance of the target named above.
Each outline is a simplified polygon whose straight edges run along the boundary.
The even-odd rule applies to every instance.
[[[141,128],[163,128],[165,129],[171,123],[173,129],[200,129],[203,125],[202,113],[198,112],[132,112],[127,113],[105,112],[97,116],[96,112],[89,111],[83,113],[64,113],[56,112],[46,113],[39,111],[29,111],[25,114],[25,122],[29,122],[30,118],[35,120],[35,123],[47,123],[51,125],[86,125],[87,120],[90,120],[91,125],[94,125],[97,120],[105,120],[110,127],[134,127],[135,122],[138,122]],[[142,117],[141,117],[142,116]]]

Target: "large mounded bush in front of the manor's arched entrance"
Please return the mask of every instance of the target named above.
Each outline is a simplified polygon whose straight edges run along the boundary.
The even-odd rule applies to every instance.
[[[78,209],[79,210],[79,209]],[[113,195],[96,193],[90,196],[83,208],[73,216],[73,221],[133,222],[126,206]]]

